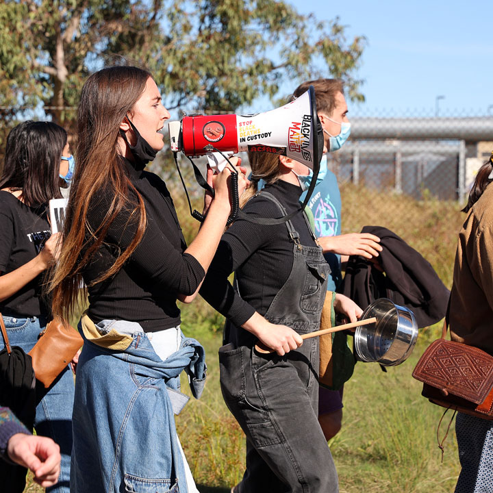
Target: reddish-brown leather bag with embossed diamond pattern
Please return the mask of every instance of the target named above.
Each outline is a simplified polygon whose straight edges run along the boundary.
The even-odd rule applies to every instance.
[[[493,356],[461,342],[435,340],[414,368],[422,396],[433,404],[493,420]]]

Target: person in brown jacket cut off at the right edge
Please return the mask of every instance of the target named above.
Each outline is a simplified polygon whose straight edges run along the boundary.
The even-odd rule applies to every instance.
[[[493,355],[493,155],[479,169],[463,211],[451,289],[451,339]],[[462,466],[455,493],[493,485],[493,421],[458,412],[455,433]]]

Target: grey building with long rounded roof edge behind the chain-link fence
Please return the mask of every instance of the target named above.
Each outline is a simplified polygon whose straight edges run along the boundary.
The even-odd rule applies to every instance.
[[[419,200],[464,201],[493,150],[493,117],[353,118],[335,155],[342,180]]]

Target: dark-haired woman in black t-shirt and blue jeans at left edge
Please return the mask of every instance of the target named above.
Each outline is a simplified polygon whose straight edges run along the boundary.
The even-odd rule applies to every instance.
[[[7,138],[0,176],[0,313],[10,344],[26,353],[51,317],[42,286],[60,253],[60,235],[51,234],[48,206],[62,197],[67,149],[66,131],[51,122],[21,123]],[[60,480],[50,492],[69,492],[73,394],[68,366],[48,390],[36,387],[36,433],[53,438],[62,451]]]

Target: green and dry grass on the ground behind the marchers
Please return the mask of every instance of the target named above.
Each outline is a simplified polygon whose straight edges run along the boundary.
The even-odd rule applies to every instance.
[[[341,194],[343,233],[360,231],[364,225],[388,227],[418,250],[446,286],[451,286],[457,232],[465,217],[458,212],[457,203],[432,198],[414,201],[352,184],[341,186]],[[197,222],[190,218],[184,197],[174,197],[190,240],[197,233]],[[184,307],[182,327],[205,346],[209,376],[202,399],[191,399],[177,417],[177,429],[201,493],[229,493],[244,470],[244,435],[223,403],[219,388],[217,350],[223,318],[200,299]],[[436,431],[442,408],[420,395],[421,385],[411,375],[422,351],[438,337],[439,325],[422,331],[407,362],[388,368],[387,373],[377,364],[357,364],[344,389],[342,430],[330,443],[341,493],[453,490],[459,473],[453,427],[441,464]],[[184,384],[184,390],[187,386]],[[441,437],[449,419],[444,419]],[[29,481],[25,491],[38,493],[42,489]]]

